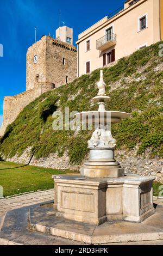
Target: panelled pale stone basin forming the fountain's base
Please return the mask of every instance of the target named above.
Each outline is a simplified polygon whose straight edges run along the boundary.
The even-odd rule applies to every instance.
[[[142,222],[155,213],[154,177],[53,176],[56,216],[100,225],[106,221]]]

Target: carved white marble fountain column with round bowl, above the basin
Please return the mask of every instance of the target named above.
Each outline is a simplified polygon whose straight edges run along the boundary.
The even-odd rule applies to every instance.
[[[93,101],[98,102],[98,111],[79,113],[79,115],[88,114],[90,117],[96,117],[94,123],[97,126],[90,141],[88,141],[90,159],[84,164],[81,174],[90,178],[118,178],[124,176],[124,169],[114,159],[116,140],[111,135],[110,124],[120,122],[121,119],[129,117],[129,114],[105,111],[105,102],[109,101],[110,97],[106,96],[103,70],[101,70],[97,87],[98,96],[93,97]]]

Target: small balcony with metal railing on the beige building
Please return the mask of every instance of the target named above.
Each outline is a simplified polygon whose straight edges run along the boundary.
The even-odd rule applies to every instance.
[[[102,38],[96,41],[96,49],[99,51],[105,51],[106,49],[116,45],[116,34],[106,34]]]

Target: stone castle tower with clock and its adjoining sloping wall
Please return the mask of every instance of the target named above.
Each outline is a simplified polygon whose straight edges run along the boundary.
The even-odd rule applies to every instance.
[[[4,97],[0,136],[30,102],[48,90],[77,78],[77,50],[72,45],[73,31],[61,27],[57,39],[42,36],[27,51],[26,92]],[[61,41],[62,39],[63,41]]]

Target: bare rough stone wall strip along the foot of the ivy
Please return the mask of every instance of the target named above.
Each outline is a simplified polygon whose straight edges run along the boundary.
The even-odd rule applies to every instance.
[[[30,157],[32,156],[31,149],[32,148],[27,148],[24,150],[24,153],[21,156],[15,155],[12,158],[5,160],[9,162],[27,164],[29,163]],[[144,176],[155,176],[157,181],[163,182],[162,159],[149,159],[148,150],[141,156],[137,156],[136,151],[136,149],[117,149],[115,151],[115,159],[121,163],[121,166],[124,167],[126,173],[134,173]],[[87,158],[88,156],[85,157],[85,161],[87,161]],[[53,169],[80,170],[81,168],[81,166],[76,164],[70,164],[67,151],[63,156],[58,156],[57,153],[54,153],[47,157],[41,157],[40,159],[33,157],[30,165]]]

